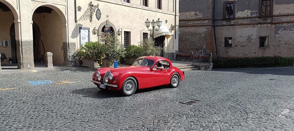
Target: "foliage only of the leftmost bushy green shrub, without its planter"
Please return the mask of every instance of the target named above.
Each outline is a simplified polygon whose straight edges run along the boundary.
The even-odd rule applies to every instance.
[[[104,50],[105,50],[105,47],[100,42],[90,41],[85,43],[84,45],[81,45],[80,48],[78,48],[78,50],[76,51],[75,56],[77,60],[79,61],[82,58],[88,58],[88,59],[93,59],[97,62],[103,56]]]

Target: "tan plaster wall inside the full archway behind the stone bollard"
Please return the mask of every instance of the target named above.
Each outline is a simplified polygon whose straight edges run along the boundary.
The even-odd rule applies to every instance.
[[[34,13],[33,21],[39,26],[41,31],[41,39],[43,40],[45,52],[42,54],[45,56],[46,52],[53,53],[53,64],[63,65],[64,57],[63,50],[61,50],[62,44],[62,28],[60,16],[52,11],[51,14]]]

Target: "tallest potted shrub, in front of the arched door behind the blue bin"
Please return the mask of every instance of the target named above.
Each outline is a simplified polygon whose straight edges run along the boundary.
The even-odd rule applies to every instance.
[[[102,67],[113,67],[114,60],[119,61],[124,58],[124,51],[120,48],[121,42],[112,32],[107,36],[103,36],[101,41],[105,42]]]

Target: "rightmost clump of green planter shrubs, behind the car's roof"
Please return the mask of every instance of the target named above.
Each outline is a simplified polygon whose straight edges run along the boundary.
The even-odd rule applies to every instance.
[[[138,46],[129,45],[125,48],[126,64],[133,62],[141,56],[157,56],[162,48],[154,46],[154,41],[143,40],[138,43]]]

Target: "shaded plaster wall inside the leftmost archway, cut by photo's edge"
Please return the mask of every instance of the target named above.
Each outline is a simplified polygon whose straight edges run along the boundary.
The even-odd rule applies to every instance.
[[[10,41],[10,27],[11,27],[11,24],[13,23],[13,14],[11,11],[6,11],[6,12],[3,12],[1,9],[0,9],[0,16],[2,18],[5,18],[5,19],[0,19],[0,23],[1,23],[1,26],[0,26],[0,41],[2,42],[2,46],[0,46],[0,53],[5,53],[6,57],[11,57],[11,41]],[[6,22],[8,24],[6,24]],[[4,47],[4,43],[3,43],[3,40],[8,40],[9,41],[9,46],[8,47]],[[1,64],[6,64],[5,62],[4,63],[1,63]]]

